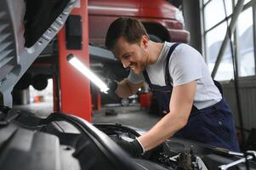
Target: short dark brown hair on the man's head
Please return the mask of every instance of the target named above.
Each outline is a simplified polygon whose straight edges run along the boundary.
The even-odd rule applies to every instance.
[[[112,50],[119,37],[124,37],[129,43],[139,43],[144,35],[149,37],[139,20],[121,17],[111,23],[106,33],[105,47]]]

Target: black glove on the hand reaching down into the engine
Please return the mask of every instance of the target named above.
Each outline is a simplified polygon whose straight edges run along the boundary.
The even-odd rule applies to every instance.
[[[117,144],[121,146],[122,150],[125,150],[130,156],[139,157],[144,153],[144,150],[137,139],[134,139],[132,142],[128,142],[120,138],[117,140]]]

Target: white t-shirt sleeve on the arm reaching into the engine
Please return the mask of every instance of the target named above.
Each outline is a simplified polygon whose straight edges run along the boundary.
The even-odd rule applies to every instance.
[[[169,61],[174,87],[202,78],[203,62],[202,55],[195,48],[180,44]]]

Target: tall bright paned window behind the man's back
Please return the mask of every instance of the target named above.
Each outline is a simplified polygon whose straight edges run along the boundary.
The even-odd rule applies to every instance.
[[[225,6],[228,17],[233,12],[233,3],[237,0],[225,0]],[[246,0],[244,4],[249,3]],[[253,4],[253,3],[252,3]],[[202,0],[202,18],[203,18],[203,42],[204,54],[210,71],[213,71],[215,61],[219,54],[219,48],[225,38],[227,24],[225,20],[225,8],[223,0]],[[229,19],[230,23],[230,19]],[[234,54],[237,54],[238,75],[248,77],[255,75],[255,59],[253,45],[253,8],[247,5],[240,14],[236,27],[236,38],[232,37]],[[227,45],[222,57],[218,71],[214,77],[216,80],[230,80],[234,77],[233,65],[230,51],[230,43]]]

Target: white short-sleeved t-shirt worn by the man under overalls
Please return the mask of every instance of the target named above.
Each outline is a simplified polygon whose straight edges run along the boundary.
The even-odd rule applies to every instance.
[[[162,51],[153,65],[145,69],[152,84],[166,86],[164,79],[166,59],[169,48],[173,42],[164,42]],[[213,79],[202,55],[195,48],[181,43],[175,49],[169,60],[170,77],[173,79],[173,86],[179,86],[188,82],[196,81],[196,95],[194,105],[197,109],[203,109],[218,103],[222,96],[219,89],[214,85]],[[134,84],[144,82],[143,73],[136,75],[130,71],[128,81]]]

